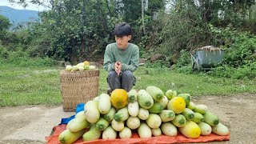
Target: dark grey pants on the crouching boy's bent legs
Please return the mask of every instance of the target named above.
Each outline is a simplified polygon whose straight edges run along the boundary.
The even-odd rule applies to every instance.
[[[129,92],[136,82],[136,78],[130,70],[123,71],[119,76],[115,70],[111,70],[106,80],[111,90],[124,89],[126,92]]]

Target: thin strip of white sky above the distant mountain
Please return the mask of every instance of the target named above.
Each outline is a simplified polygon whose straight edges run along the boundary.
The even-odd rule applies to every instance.
[[[37,5],[33,5],[31,3],[29,3],[29,5],[26,7],[26,9],[24,9],[24,7],[22,7],[18,4],[11,4],[8,0],[0,0],[0,6],[10,6],[14,9],[18,9],[18,10],[37,10],[37,11],[46,10],[46,8],[44,8],[43,6],[37,6]]]

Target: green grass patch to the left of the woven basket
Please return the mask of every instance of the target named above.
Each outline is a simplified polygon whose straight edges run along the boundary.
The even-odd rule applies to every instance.
[[[0,106],[57,104],[60,97],[56,67],[3,66],[0,70]]]

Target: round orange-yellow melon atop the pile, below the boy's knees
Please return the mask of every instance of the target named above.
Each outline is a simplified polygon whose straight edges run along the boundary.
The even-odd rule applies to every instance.
[[[125,107],[128,102],[128,94],[126,90],[123,90],[123,89],[113,90],[110,95],[110,101],[112,106],[114,106],[117,109],[121,109]]]

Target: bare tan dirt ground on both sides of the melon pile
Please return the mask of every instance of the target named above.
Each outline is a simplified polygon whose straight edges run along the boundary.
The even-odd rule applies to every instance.
[[[210,143],[256,142],[256,94],[204,96],[193,102],[208,106],[230,129],[230,141]],[[63,112],[62,106],[0,107],[0,143],[46,143],[52,128],[73,114]]]

